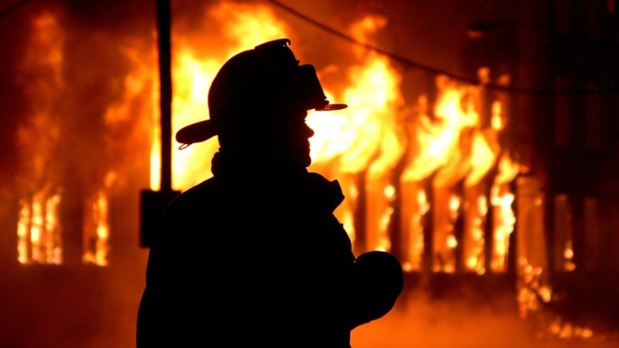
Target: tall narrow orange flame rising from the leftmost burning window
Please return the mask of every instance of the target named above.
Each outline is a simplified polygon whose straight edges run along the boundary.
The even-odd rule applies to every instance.
[[[61,136],[52,113],[65,87],[65,33],[51,13],[32,21],[32,35],[19,70],[31,117],[19,125],[17,139],[24,158],[19,183],[23,191],[17,222],[17,259],[22,263],[60,264],[63,260],[58,205],[61,187],[48,177],[54,166],[54,147]]]

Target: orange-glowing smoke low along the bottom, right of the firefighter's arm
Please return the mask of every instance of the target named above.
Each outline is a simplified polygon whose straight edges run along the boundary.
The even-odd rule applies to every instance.
[[[552,332],[558,317],[534,313],[520,318],[509,286],[471,280],[467,280],[471,285],[452,284],[440,296],[424,286],[409,289],[390,313],[352,331],[352,347],[616,347],[608,332],[596,331],[591,338],[558,338]]]

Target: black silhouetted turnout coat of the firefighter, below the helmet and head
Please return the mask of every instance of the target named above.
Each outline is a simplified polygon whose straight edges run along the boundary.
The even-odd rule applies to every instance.
[[[152,236],[137,346],[350,347],[402,289],[386,253],[355,262],[337,181],[213,161]],[[251,174],[250,174],[251,173]],[[377,260],[376,262],[375,259]]]

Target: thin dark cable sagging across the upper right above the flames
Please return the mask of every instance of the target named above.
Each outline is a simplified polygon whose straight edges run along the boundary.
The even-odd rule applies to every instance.
[[[394,61],[398,61],[400,63],[402,63],[403,65],[408,65],[412,68],[416,68],[419,70],[423,70],[425,72],[430,72],[431,74],[437,74],[437,75],[445,75],[446,77],[449,77],[450,79],[455,79],[457,81],[462,81],[465,82],[467,84],[473,84],[473,85],[478,85],[480,84],[480,81],[478,79],[474,79],[472,77],[466,77],[466,76],[462,76],[459,74],[454,74],[453,72],[448,72],[446,70],[442,70],[439,68],[434,68],[430,65],[425,65],[422,63],[418,63],[415,61],[411,61],[409,58],[405,58],[402,57],[398,54],[394,54],[392,52],[386,51],[380,47],[374,46],[374,45],[370,45],[366,42],[360,42],[359,40],[355,40],[354,38],[352,38],[350,35],[346,35],[345,33],[342,33],[341,31],[338,31],[336,29],[331,28],[330,26],[327,26],[326,24],[322,24],[320,22],[318,22],[317,20],[308,17],[306,15],[304,15],[303,13],[300,13],[299,11],[290,8],[286,5],[284,5],[283,3],[277,1],[277,0],[266,0],[269,3],[274,4],[275,6],[281,8],[282,10],[285,10],[286,12],[290,13],[291,15],[294,15],[295,17],[298,17],[299,19],[304,20],[304,22],[308,22],[309,24],[316,26],[324,31],[327,31],[327,33],[331,33],[332,35],[337,36],[340,39],[346,40],[350,43],[352,43],[353,45],[358,45],[361,47],[365,47],[366,49],[370,49],[374,52],[377,52],[379,54],[382,54],[384,56],[388,56],[389,58],[393,59]],[[565,91],[559,91],[559,90],[538,90],[538,89],[532,89],[532,88],[519,88],[519,87],[515,87],[515,86],[504,86],[504,85],[500,85],[500,84],[492,84],[492,83],[488,83],[488,84],[484,84],[485,88],[489,88],[489,89],[493,89],[493,90],[502,90],[502,91],[506,91],[506,92],[512,92],[512,93],[528,93],[528,94],[538,94],[538,95],[581,95],[581,94],[600,94],[600,93],[616,93],[618,92],[618,90],[565,90]]]

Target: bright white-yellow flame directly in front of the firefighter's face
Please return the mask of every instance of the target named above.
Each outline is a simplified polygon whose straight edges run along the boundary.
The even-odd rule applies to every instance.
[[[386,20],[369,16],[352,26],[354,36],[365,40],[382,28]],[[395,165],[404,151],[403,134],[397,123],[401,76],[389,60],[375,52],[359,52],[362,61],[349,69],[350,85],[341,98],[350,107],[324,118],[318,113],[308,116],[315,130],[311,156],[315,163],[338,159],[334,163],[340,173],[360,173],[370,168],[379,176]],[[326,90],[327,96],[331,95]]]

